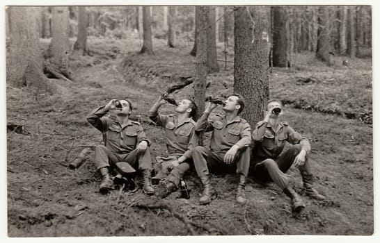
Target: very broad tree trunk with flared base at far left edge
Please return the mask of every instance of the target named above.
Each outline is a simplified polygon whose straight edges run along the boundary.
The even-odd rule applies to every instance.
[[[33,7],[9,7],[10,47],[6,56],[6,80],[14,87],[33,86],[39,91],[52,91],[42,72],[39,47],[38,15]]]

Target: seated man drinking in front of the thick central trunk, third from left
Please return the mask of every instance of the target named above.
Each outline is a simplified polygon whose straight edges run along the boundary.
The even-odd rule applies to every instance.
[[[214,198],[216,192],[210,185],[209,169],[221,169],[235,170],[239,175],[236,201],[244,204],[244,187],[250,159],[248,146],[251,144],[251,126],[239,117],[244,109],[244,99],[239,94],[233,94],[225,100],[225,115],[216,114],[207,121],[215,107],[215,103],[207,102],[205,112],[196,123],[196,133],[212,131],[210,149],[196,146],[191,150],[197,174],[203,184],[203,195],[199,202],[207,204]]]

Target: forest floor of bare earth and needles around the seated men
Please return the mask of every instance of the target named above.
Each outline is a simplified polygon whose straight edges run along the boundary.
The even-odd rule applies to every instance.
[[[49,44],[41,42],[44,48]],[[146,56],[138,54],[141,42],[134,35],[128,40],[90,37],[92,56],[72,56],[74,82],[57,80],[56,94],[7,85],[7,121],[24,125],[28,132],[7,134],[9,237],[189,235],[189,228],[197,235],[372,235],[370,58],[349,60],[345,67],[344,57],[333,56],[333,65],[327,67],[306,52],[293,56],[292,70],[271,69],[271,97],[287,103],[283,119],[310,139],[315,187],[328,199],[317,202],[303,195],[306,209],[299,215],[291,212],[290,199],[274,183],[263,185],[252,178],[246,185],[248,203],[237,205],[234,174],[212,176],[219,197],[200,206],[202,187],[194,172],[184,178],[190,199],[179,199],[175,192],[161,200],[141,190],[100,194],[93,152],[84,165],[69,169],[81,146],[100,143],[101,134],[86,115],[110,99],[128,97],[134,104],[132,117],[152,140],[154,156],[164,153],[164,131],[148,122],[147,113],[168,85],[180,76],[195,75],[195,58],[189,56],[192,43],[170,49],[155,39],[154,45],[155,56]],[[223,59],[223,43],[218,48]],[[232,53],[229,47],[230,61]],[[209,94],[232,92],[232,62],[226,69],[224,62],[219,65],[221,71],[207,77]],[[175,97],[191,92],[189,85]],[[173,106],[161,112],[173,112]],[[303,194],[299,172],[292,168],[288,174]],[[165,203],[173,213],[138,208],[141,203]]]

